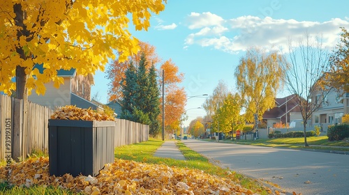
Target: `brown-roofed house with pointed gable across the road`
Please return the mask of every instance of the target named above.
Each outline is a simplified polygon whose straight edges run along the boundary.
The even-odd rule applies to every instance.
[[[276,123],[290,123],[292,120],[302,119],[295,95],[275,99],[276,106],[263,114],[263,122],[268,127],[274,127]]]

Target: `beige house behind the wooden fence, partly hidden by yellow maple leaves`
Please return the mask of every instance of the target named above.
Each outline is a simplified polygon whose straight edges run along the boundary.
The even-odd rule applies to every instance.
[[[42,65],[36,65],[34,68],[38,68],[40,72],[43,71]],[[51,81],[45,84],[45,95],[37,95],[33,90],[28,100],[52,109],[70,104],[85,109],[97,109],[98,105],[90,102],[91,85],[94,84],[93,75],[77,75],[74,68],[59,70],[57,75],[64,78],[64,84],[61,84],[59,88],[55,88]]]

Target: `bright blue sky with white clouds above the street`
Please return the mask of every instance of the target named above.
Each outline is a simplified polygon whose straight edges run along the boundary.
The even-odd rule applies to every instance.
[[[235,91],[235,68],[249,47],[280,49],[289,39],[308,33],[322,36],[325,46],[338,42],[340,29],[349,29],[349,1],[325,0],[168,0],[165,10],[151,17],[148,31],[133,36],[156,47],[166,61],[172,59],[184,72],[188,96],[213,92],[219,80]],[[98,92],[107,102],[107,84],[103,72],[96,72],[91,94]],[[279,97],[288,95],[279,93]],[[191,98],[184,125],[205,116],[201,107],[205,98]]]

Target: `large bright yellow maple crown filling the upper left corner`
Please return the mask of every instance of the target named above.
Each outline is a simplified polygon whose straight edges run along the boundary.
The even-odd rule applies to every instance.
[[[124,61],[139,50],[128,31],[150,26],[163,0],[3,0],[0,11],[0,91],[24,98],[26,89],[45,94],[44,84],[63,84],[57,70],[87,75],[104,70],[109,59]],[[39,71],[35,65],[43,65]],[[11,81],[15,77],[16,82]]]

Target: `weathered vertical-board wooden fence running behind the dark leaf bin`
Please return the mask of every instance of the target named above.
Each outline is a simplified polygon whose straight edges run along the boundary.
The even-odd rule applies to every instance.
[[[53,111],[32,102],[0,95],[0,159],[27,157],[33,150],[48,149],[48,119]],[[117,119],[114,147],[149,139],[149,126]]]

